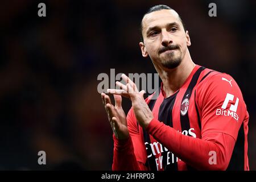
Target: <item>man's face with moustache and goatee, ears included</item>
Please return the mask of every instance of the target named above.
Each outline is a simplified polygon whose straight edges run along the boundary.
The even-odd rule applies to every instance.
[[[174,10],[159,10],[142,19],[144,43],[140,43],[142,55],[162,64],[164,68],[176,68],[183,60],[187,46],[191,45],[188,31],[184,31],[179,15]]]

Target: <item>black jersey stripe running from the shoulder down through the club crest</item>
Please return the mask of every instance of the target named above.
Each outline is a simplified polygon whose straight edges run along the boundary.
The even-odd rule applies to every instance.
[[[189,98],[191,97],[192,90],[196,86],[197,80],[199,79],[199,76],[204,69],[205,69],[204,67],[200,67],[199,69],[197,69],[196,73],[193,75],[191,82],[189,83],[188,88],[183,96],[183,99],[181,100],[181,107],[182,107],[182,102],[186,98],[189,100]],[[188,107],[188,109],[189,109],[189,107]],[[181,114],[181,111],[180,111],[180,125],[181,125],[181,132],[183,132],[184,130],[187,130],[187,133],[188,133],[188,131],[190,129],[188,110],[187,110],[187,113],[185,113],[185,115]],[[189,133],[188,133],[188,136],[189,136]],[[187,165],[187,169],[195,170],[194,168],[192,168],[191,166],[188,166],[188,165]]]

